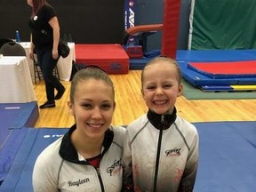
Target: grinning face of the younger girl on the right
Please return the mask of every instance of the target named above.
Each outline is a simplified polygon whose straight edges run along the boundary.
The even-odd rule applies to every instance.
[[[170,63],[157,63],[144,69],[142,94],[149,109],[156,114],[172,112],[181,95],[177,69]]]

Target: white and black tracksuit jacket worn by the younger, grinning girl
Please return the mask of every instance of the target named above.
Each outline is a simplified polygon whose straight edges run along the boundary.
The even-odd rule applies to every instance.
[[[176,109],[172,115],[149,110],[128,125],[124,138],[126,191],[191,192],[197,162],[196,127],[176,116]]]

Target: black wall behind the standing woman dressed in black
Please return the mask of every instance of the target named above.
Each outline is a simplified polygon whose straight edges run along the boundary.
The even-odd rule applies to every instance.
[[[59,16],[61,35],[71,34],[76,43],[122,43],[124,0],[48,0]],[[28,20],[31,7],[26,0],[0,1],[0,37],[29,41]]]

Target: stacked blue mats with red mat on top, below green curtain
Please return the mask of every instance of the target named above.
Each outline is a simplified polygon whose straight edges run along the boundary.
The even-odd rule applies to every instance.
[[[211,92],[256,90],[255,50],[178,51],[188,83]]]

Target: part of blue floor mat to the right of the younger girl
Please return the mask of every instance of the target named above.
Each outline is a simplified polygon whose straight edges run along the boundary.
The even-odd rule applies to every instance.
[[[254,192],[256,122],[195,124],[199,167],[194,192]]]

